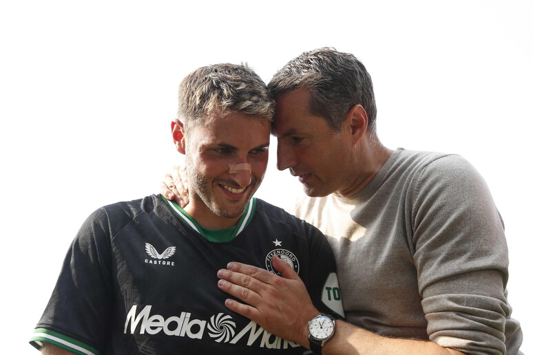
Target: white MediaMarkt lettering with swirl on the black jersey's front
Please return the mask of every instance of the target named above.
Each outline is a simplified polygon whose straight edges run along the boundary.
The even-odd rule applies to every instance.
[[[130,334],[134,334],[136,331],[139,334],[158,334],[163,331],[169,336],[202,339],[207,326],[207,334],[218,343],[236,344],[244,339],[248,346],[255,345],[267,349],[287,349],[289,346],[300,346],[267,332],[254,321],[250,321],[236,334],[236,323],[231,316],[224,313],[211,316],[209,323],[207,323],[202,319],[191,319],[189,312],[181,312],[180,316],[169,316],[165,319],[160,314],[150,315],[150,311],[151,305],[146,305],[143,310],[136,314],[137,305],[133,305],[126,316],[124,334],[127,334],[128,329]]]

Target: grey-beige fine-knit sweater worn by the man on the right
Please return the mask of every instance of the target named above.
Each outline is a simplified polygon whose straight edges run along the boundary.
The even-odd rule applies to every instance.
[[[397,149],[362,191],[302,197],[337,259],[346,321],[467,354],[520,354],[503,222],[459,155]]]

